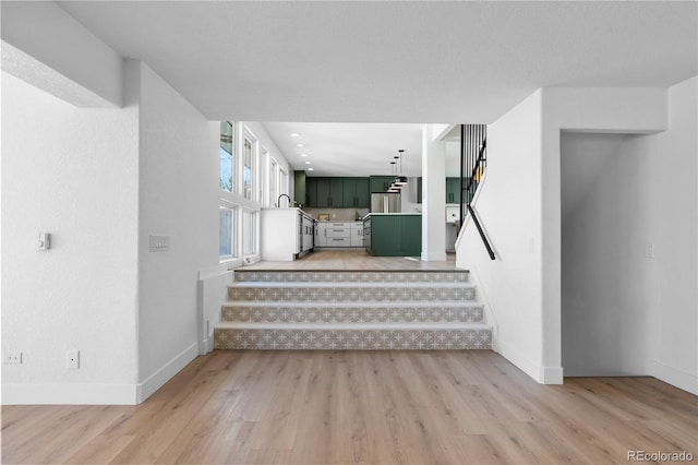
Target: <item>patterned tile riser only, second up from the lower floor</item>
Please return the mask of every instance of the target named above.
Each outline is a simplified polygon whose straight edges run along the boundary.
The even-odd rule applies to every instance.
[[[226,307],[222,321],[243,323],[477,323],[481,308]]]

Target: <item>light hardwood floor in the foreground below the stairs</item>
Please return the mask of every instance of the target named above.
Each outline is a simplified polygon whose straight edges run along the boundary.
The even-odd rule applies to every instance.
[[[661,381],[540,385],[489,350],[215,351],[139,406],[2,407],[5,464],[605,464],[697,438]]]

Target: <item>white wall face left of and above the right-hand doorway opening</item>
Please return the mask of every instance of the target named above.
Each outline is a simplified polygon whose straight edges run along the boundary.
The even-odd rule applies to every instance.
[[[542,359],[544,366],[558,367],[562,363],[561,131],[663,131],[666,129],[666,90],[553,87],[542,92]]]

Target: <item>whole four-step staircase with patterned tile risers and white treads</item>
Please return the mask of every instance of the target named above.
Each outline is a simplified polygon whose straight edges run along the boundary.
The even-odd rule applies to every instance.
[[[216,349],[490,349],[467,271],[234,272]]]

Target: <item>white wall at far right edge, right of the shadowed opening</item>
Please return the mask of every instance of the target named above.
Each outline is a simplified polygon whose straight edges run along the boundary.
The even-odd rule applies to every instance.
[[[657,135],[653,162],[661,164],[650,211],[657,231],[652,371],[698,395],[697,90],[698,76],[669,90],[669,131]],[[651,148],[650,143],[642,147]]]

